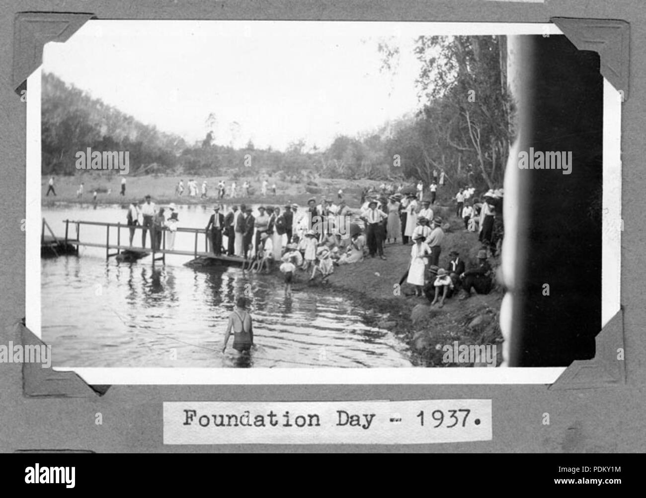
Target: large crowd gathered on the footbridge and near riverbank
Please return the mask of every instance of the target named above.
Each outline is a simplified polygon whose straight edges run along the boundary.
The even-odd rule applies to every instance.
[[[194,190],[193,185],[190,181],[189,190]],[[261,192],[266,193],[268,186],[264,183]],[[362,192],[363,202],[357,210],[349,209],[342,190],[337,201],[328,196],[320,201],[311,197],[303,208],[287,203],[254,210],[232,204],[225,213],[222,204],[216,204],[204,228],[209,253],[242,258],[248,261],[244,268],[255,272],[269,273],[277,267],[284,274],[285,293],[291,295],[300,272],[308,281],[320,275],[320,281],[326,282],[337,266],[361,263],[366,257],[386,261],[384,248],[401,243],[410,246],[410,263],[400,281],[409,284],[409,295],[425,295],[432,304],[443,306],[452,295],[463,299],[472,290],[487,294],[493,282],[488,259],[498,254],[503,238],[503,190],[492,189],[475,197],[472,186],[459,188],[447,215],[446,206],[436,204],[437,197],[432,194],[437,189],[433,187],[434,182],[428,186],[428,195],[420,197],[417,186],[382,184],[379,189]],[[242,188],[248,186],[243,184]],[[218,195],[223,190],[221,182]],[[159,250],[161,235],[167,232],[165,248],[173,250],[178,223],[174,203],[158,207],[147,195],[140,206],[131,203],[128,208],[130,245],[135,226],[140,224],[142,248],[150,232],[151,247]],[[455,230],[474,233],[477,261],[465,261],[468,255],[450,248],[450,261],[441,268],[446,232]]]

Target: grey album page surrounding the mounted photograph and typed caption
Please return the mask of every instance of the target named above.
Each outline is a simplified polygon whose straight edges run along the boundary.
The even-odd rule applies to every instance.
[[[198,2],[177,5],[157,1],[105,3],[66,3],[66,14],[17,12],[16,5],[3,6],[3,46],[14,46],[0,54],[3,74],[12,72],[12,82],[5,81],[2,90],[6,119],[0,123],[4,140],[0,143],[6,164],[5,182],[0,184],[6,199],[3,217],[3,257],[1,274],[6,284],[1,301],[2,343],[40,341],[20,323],[25,300],[25,237],[20,230],[25,218],[25,106],[16,90],[41,61],[42,46],[47,41],[68,39],[87,19],[392,19],[391,3],[376,3],[370,11],[360,2],[342,5],[322,2],[314,12],[311,6],[280,3],[266,10],[253,2],[214,7]],[[641,416],[643,391],[640,384],[646,369],[640,358],[645,345],[640,341],[641,324],[646,311],[640,297],[646,268],[640,263],[642,246],[640,227],[643,208],[642,175],[638,165],[646,155],[641,130],[646,125],[646,88],[643,74],[646,53],[633,50],[629,58],[629,19],[634,32],[646,29],[646,13],[640,1],[623,5],[607,5],[603,1],[572,1],[567,6],[521,4],[506,2],[459,1],[446,3],[398,2],[397,20],[410,21],[490,21],[548,22],[554,21],[580,50],[596,50],[601,55],[603,75],[624,94],[629,90],[629,65],[633,70],[632,99],[623,106],[622,146],[623,232],[622,310],[603,328],[597,337],[597,356],[590,361],[574,362],[556,383],[536,385],[463,385],[463,386],[112,386],[103,396],[92,390],[74,373],[54,372],[51,368],[17,364],[0,365],[0,399],[3,419],[0,448],[12,451],[79,451],[92,452],[207,452],[211,446],[168,447],[161,443],[161,404],[163,401],[341,401],[361,399],[441,399],[456,397],[490,398],[494,406],[494,439],[479,443],[433,444],[415,450],[435,452],[612,452],[635,451],[646,422]],[[19,9],[33,11],[35,1],[20,3]],[[92,14],[87,14],[91,10]],[[323,14],[321,14],[323,13]],[[15,16],[15,17],[14,17]],[[581,17],[582,19],[576,19]],[[586,19],[594,17],[596,19]],[[567,18],[567,19],[565,19]],[[15,21],[15,22],[14,22]],[[19,92],[18,92],[19,93]],[[631,228],[632,227],[632,228]],[[631,231],[632,230],[632,231]],[[624,344],[625,340],[625,344]],[[618,348],[626,349],[628,363],[617,361]],[[566,392],[562,392],[565,390]],[[614,416],[622,406],[621,420]],[[96,413],[103,424],[94,423]],[[550,413],[551,424],[541,424],[543,413]],[[605,421],[603,424],[598,421]],[[220,450],[249,450],[244,446],[220,447]],[[293,451],[293,446],[264,446],[256,451]],[[339,451],[338,446],[304,445],[299,451]],[[393,450],[405,450],[395,447]],[[343,451],[365,450],[362,446],[343,446]],[[75,451],[75,450],[71,450]]]

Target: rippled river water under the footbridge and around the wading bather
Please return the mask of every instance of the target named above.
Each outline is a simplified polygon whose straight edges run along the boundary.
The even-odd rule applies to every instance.
[[[179,226],[203,228],[211,213],[203,205],[178,206]],[[43,206],[43,217],[59,237],[65,219],[125,223],[125,214],[125,206],[118,205]],[[76,235],[72,225],[69,235]],[[105,243],[103,227],[81,226],[80,235],[81,241]],[[116,242],[114,232],[110,238]],[[135,246],[140,242],[136,232]],[[125,228],[121,244],[127,244]],[[177,235],[176,249],[193,246],[193,234]],[[243,275],[226,266],[191,268],[184,265],[190,259],[167,255],[165,264],[154,266],[151,256],[137,263],[114,257],[106,262],[105,249],[90,247],[81,247],[78,257],[41,259],[42,337],[52,345],[54,366],[412,366],[394,334],[367,326],[364,310],[333,290],[308,289],[303,274],[289,298],[273,275]],[[238,355],[231,337],[222,354],[227,316],[245,284],[250,284],[256,348],[250,356]]]

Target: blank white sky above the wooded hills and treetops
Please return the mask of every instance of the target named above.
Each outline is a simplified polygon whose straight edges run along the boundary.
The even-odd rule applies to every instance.
[[[48,43],[43,70],[189,144],[213,128],[221,145],[326,148],[417,108],[413,41],[429,26],[94,20]],[[401,48],[395,74],[380,72],[386,40]]]

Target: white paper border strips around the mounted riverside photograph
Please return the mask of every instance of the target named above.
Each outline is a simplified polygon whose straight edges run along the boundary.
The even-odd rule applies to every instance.
[[[94,21],[89,21],[94,22]],[[105,22],[105,21],[103,21]],[[119,21],[114,21],[119,22]],[[123,21],[128,22],[128,21]],[[164,21],[168,23],[187,21]],[[196,22],[196,21],[188,21]],[[283,21],[199,21],[256,22]],[[324,22],[340,21],[285,21]],[[355,21],[352,21],[355,22]],[[382,35],[428,25],[433,35],[560,35],[551,23],[357,22]],[[171,26],[169,26],[171,27]],[[26,110],[26,326],[41,337],[41,68],[27,79]],[[620,310],[621,98],[603,85],[602,308],[599,331]],[[141,263],[139,263],[141,264]],[[145,263],[144,263],[145,264]],[[564,367],[545,368],[55,368],[88,384],[552,384]]]

